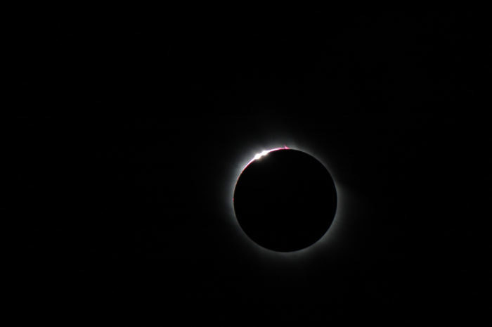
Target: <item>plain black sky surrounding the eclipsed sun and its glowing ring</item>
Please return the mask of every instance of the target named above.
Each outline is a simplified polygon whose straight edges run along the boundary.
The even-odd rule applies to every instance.
[[[10,31],[19,323],[490,319],[486,18],[172,16]],[[224,203],[252,148],[291,143],[329,162],[347,205],[330,246],[289,259],[238,237]]]

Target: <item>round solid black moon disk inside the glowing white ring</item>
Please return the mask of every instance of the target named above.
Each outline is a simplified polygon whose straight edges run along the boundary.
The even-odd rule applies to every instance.
[[[264,151],[258,157],[235,185],[234,210],[242,230],[270,250],[307,248],[335,218],[337,191],[330,173],[299,150]]]

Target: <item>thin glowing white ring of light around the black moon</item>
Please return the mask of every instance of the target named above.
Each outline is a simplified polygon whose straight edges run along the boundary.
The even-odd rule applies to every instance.
[[[268,248],[264,248],[263,246],[261,246],[258,243],[254,242],[250,238],[250,236],[248,236],[247,233],[245,233],[245,231],[242,230],[242,228],[241,228],[241,226],[240,226],[240,224],[238,222],[238,218],[235,216],[235,210],[234,210],[234,191],[235,191],[235,186],[238,184],[238,180],[239,180],[239,177],[241,176],[242,172],[252,162],[254,162],[255,160],[259,160],[259,159],[263,158],[264,156],[268,155],[268,153],[271,153],[271,152],[276,151],[276,150],[298,150],[298,151],[304,152],[304,153],[306,153],[308,155],[311,155],[313,158],[315,158],[316,160],[318,160],[319,162],[321,162],[321,164],[325,167],[325,169],[328,171],[328,173],[332,177],[332,180],[333,180],[333,182],[335,184],[335,191],[337,193],[337,209],[335,211],[335,215],[333,217],[332,224],[330,225],[330,227],[328,228],[328,230],[325,232],[325,234],[323,236],[321,236],[321,238],[319,238],[318,241],[316,241],[315,243],[309,245],[308,247],[302,248],[300,250],[290,251],[290,252],[279,252],[279,251],[271,250],[271,249],[268,249]],[[323,162],[323,160],[320,160],[320,158],[318,158],[317,155],[313,155],[311,153],[311,151],[300,150],[297,147],[294,148],[293,146],[285,146],[285,145],[283,147],[271,148],[270,150],[261,150],[259,153],[256,153],[253,156],[252,159],[248,160],[245,165],[242,165],[242,167],[239,169],[239,172],[236,171],[235,175],[236,175],[236,178],[235,178],[235,182],[233,183],[233,188],[232,188],[233,198],[232,198],[232,201],[231,201],[231,209],[232,209],[233,219],[235,220],[235,225],[240,230],[240,233],[242,234],[242,236],[245,237],[245,238],[247,238],[250,241],[250,243],[252,243],[254,245],[254,248],[257,248],[257,250],[261,250],[261,252],[264,252],[264,254],[269,253],[270,255],[281,256],[281,257],[287,257],[288,258],[288,257],[292,257],[292,256],[297,256],[297,255],[299,255],[301,253],[304,253],[305,254],[307,252],[313,252],[313,250],[315,250],[316,248],[319,249],[321,247],[321,245],[326,244],[326,241],[327,241],[327,238],[328,238],[328,234],[334,233],[334,230],[336,229],[335,226],[337,224],[337,221],[339,220],[339,219],[337,219],[337,217],[339,218],[339,216],[342,214],[342,212],[340,212],[340,211],[341,210],[343,212],[345,211],[344,210],[344,207],[346,207],[346,205],[344,205],[345,201],[342,202],[342,200],[344,199],[344,195],[339,191],[339,185],[337,184],[337,180],[333,176],[331,170],[328,169],[328,166],[325,164],[325,162]]]

